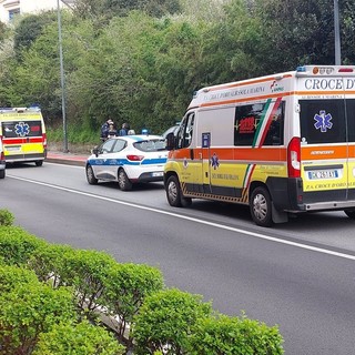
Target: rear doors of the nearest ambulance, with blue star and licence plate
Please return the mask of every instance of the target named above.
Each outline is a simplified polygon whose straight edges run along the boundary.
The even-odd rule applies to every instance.
[[[335,202],[336,207],[336,201],[355,196],[355,98],[347,92],[348,80],[337,69],[301,80],[304,203]]]

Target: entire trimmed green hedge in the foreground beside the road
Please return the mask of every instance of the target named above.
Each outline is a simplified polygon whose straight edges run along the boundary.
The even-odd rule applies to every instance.
[[[277,326],[219,314],[155,267],[50,244],[11,217],[0,210],[0,355],[283,354]]]

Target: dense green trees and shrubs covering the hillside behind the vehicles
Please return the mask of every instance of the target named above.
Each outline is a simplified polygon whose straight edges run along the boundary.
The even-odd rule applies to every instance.
[[[342,62],[355,61],[355,1],[339,3]],[[331,0],[78,0],[62,11],[71,142],[112,118],[162,133],[204,85],[334,63]],[[57,11],[0,23],[0,106],[39,104],[62,139]]]

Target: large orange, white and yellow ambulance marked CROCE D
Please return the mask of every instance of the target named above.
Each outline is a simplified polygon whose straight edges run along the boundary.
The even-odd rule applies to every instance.
[[[203,88],[166,145],[172,206],[245,204],[261,226],[317,211],[355,219],[355,65]]]

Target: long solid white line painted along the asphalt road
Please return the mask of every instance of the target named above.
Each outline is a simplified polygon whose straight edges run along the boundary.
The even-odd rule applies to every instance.
[[[82,192],[82,191],[78,191],[78,190],[72,190],[72,189],[68,189],[68,187],[62,187],[62,186],[58,186],[58,185],[52,185],[52,184],[49,184],[49,183],[45,183],[45,182],[29,180],[29,179],[24,179],[24,178],[18,178],[18,176],[13,176],[13,175],[7,175],[7,178],[21,180],[21,181],[29,182],[29,183],[32,183],[32,184],[42,185],[42,186],[47,186],[47,187],[51,187],[51,189],[55,189],[55,190],[61,190],[61,191],[65,191],[65,192],[70,192],[70,193],[75,193],[75,194],[82,195],[82,196],[89,196],[89,197],[93,197],[93,199],[98,199],[98,200],[102,200],[102,201],[106,201],[106,202],[122,204],[122,205],[134,207],[134,209],[140,209],[140,210],[145,210],[145,211],[150,211],[150,212],[160,213],[160,214],[165,214],[165,215],[174,216],[176,219],[186,220],[186,221],[190,221],[190,222],[195,222],[195,223],[200,223],[200,224],[204,224],[204,225],[210,225],[210,226],[213,226],[213,227],[216,227],[216,229],[220,229],[220,230],[241,233],[241,234],[253,236],[253,237],[257,237],[257,239],[261,239],[261,240],[266,240],[266,241],[271,241],[271,242],[275,242],[275,243],[292,245],[292,246],[305,248],[305,250],[317,252],[317,253],[328,254],[328,255],[338,256],[338,257],[343,257],[343,258],[348,258],[348,260],[354,260],[355,261],[355,255],[334,252],[334,251],[329,251],[329,250],[326,250],[326,248],[312,246],[312,245],[306,245],[306,244],[302,244],[302,243],[296,243],[296,242],[292,242],[292,241],[285,241],[285,240],[281,240],[281,239],[277,239],[277,237],[268,236],[268,235],[256,233],[256,232],[245,231],[245,230],[236,229],[236,227],[233,227],[233,226],[221,225],[221,224],[217,224],[217,223],[214,223],[214,222],[207,222],[207,221],[199,220],[196,217],[190,217],[190,216],[186,216],[186,215],[181,215],[181,214],[178,214],[178,213],[174,213],[174,212],[158,210],[158,209],[154,209],[154,207],[142,206],[142,205],[139,205],[139,204],[135,204],[135,203],[132,203],[132,202],[125,202],[125,201],[119,201],[119,200],[114,200],[114,199],[110,199],[110,197],[99,196],[99,195],[95,195],[95,194],[92,194],[92,193]]]

